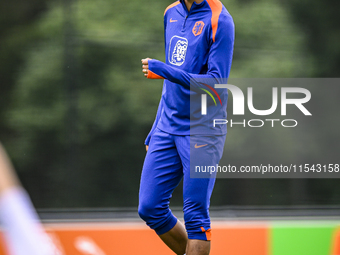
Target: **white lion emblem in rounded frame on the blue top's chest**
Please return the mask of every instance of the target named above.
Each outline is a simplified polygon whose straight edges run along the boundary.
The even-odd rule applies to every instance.
[[[169,62],[176,66],[183,65],[188,49],[188,40],[184,37],[174,36],[170,41]]]

